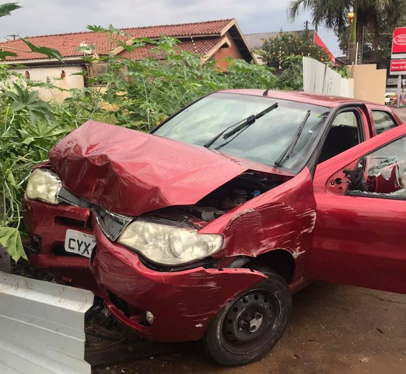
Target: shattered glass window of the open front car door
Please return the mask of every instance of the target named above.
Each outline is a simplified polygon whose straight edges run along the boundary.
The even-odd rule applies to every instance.
[[[349,195],[406,199],[406,137],[367,154],[359,161],[358,171],[351,173]]]

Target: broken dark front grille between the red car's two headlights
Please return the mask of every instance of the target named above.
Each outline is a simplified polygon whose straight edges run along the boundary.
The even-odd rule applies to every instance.
[[[100,230],[110,239],[117,240],[124,229],[131,223],[132,217],[112,213],[97,204],[82,199],[72,194],[65,187],[62,187],[57,198],[67,204],[80,206],[81,208],[90,208],[96,216],[97,224]]]

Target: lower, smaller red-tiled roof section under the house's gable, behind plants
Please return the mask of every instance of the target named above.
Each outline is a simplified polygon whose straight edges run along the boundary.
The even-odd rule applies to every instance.
[[[175,48],[179,48],[182,51],[196,52],[202,56],[206,56],[207,53],[218,43],[221,38],[208,38],[208,39],[197,39],[197,40],[186,40],[182,41]],[[136,50],[129,52],[124,50],[119,53],[120,57],[131,58],[131,59],[141,59],[144,57],[160,58],[159,55],[153,53],[151,50],[156,47],[152,44],[147,44],[146,46],[137,48]]]

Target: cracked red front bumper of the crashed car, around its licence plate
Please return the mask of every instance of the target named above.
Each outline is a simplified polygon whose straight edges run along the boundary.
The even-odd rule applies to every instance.
[[[135,252],[110,241],[88,208],[24,198],[24,209],[34,253],[30,263],[50,271],[60,283],[102,296],[115,318],[149,340],[199,339],[219,311],[265,278],[242,268],[152,270]],[[68,229],[96,236],[91,261],[64,251]],[[154,316],[152,324],[147,311]]]

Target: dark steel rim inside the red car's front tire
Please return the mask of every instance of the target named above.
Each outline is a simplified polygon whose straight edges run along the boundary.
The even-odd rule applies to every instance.
[[[280,315],[280,302],[273,292],[248,291],[227,308],[220,324],[221,342],[233,354],[256,351],[276,331]]]

